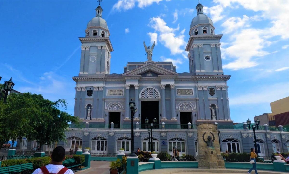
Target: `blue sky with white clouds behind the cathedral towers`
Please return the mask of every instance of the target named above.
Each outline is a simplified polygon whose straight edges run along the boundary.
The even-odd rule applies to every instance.
[[[156,41],[154,61],[173,61],[188,72],[184,51],[198,1],[101,2],[108,23],[111,73],[126,62],[145,61],[142,42]],[[231,119],[271,112],[270,102],[289,95],[289,1],[203,1],[221,39]],[[0,1],[0,76],[20,92],[68,101],[73,114],[80,41],[95,16],[96,1]]]

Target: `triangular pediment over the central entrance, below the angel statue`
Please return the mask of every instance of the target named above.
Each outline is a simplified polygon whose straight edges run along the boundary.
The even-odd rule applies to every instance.
[[[123,76],[131,76],[131,75],[142,75],[151,72],[151,74],[157,75],[178,75],[178,73],[163,68],[161,66],[155,65],[153,63],[148,63],[138,68],[135,68],[129,72],[123,74]],[[147,76],[149,77],[149,76]]]

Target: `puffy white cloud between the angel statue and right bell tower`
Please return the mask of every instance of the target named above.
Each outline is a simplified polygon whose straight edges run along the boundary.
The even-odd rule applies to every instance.
[[[179,26],[177,28],[171,28],[167,26],[166,22],[160,17],[151,18],[149,26],[154,28],[155,32],[159,32],[159,41],[166,48],[170,49],[171,54],[186,55],[186,51],[184,50],[186,45],[186,42],[184,41],[184,30],[182,30],[179,35],[175,34],[175,32],[179,30]]]

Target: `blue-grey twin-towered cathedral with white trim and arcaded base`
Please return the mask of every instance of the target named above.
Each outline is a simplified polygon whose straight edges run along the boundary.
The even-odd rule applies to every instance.
[[[73,77],[74,116],[83,124],[71,125],[65,133],[67,142],[58,145],[66,151],[71,147],[90,147],[92,154],[118,153],[120,148],[130,152],[134,136],[134,150],[148,151],[145,119],[153,123],[155,118],[155,152],[172,154],[176,147],[181,154],[197,155],[196,125],[204,122],[218,124],[221,151],[250,152],[254,147],[253,132],[247,124],[234,125],[230,116],[227,81],[231,76],[222,69],[222,35],[214,33],[212,20],[203,14],[203,5],[199,3],[196,10],[186,46],[189,72],[176,72],[172,62],[154,62],[148,57],[144,62],[128,62],[120,74],[110,74],[110,65],[116,61],[110,55],[110,31],[102,18],[103,9],[98,6],[96,16],[88,22],[85,37],[79,38],[80,71]],[[153,51],[153,47],[145,49]],[[137,108],[133,135],[131,100]],[[270,156],[277,148],[288,152],[289,133],[282,127],[277,129],[264,125],[257,131],[261,156]]]

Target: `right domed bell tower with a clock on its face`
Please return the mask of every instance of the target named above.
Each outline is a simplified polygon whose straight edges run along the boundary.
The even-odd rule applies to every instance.
[[[195,75],[223,75],[220,39],[215,35],[212,20],[203,14],[203,5],[196,6],[197,16],[190,26],[190,39],[186,51],[189,51],[190,73]]]

